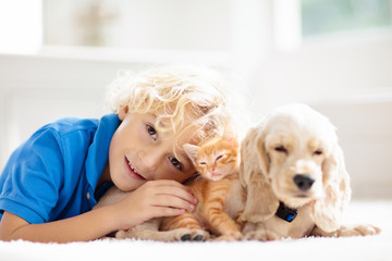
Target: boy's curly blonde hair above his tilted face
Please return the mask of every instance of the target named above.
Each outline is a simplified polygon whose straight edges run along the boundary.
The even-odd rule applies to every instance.
[[[192,128],[189,136],[199,144],[222,135],[230,122],[224,88],[215,71],[201,67],[181,65],[138,74],[122,72],[110,86],[107,105],[114,113],[155,113],[158,130],[174,130],[179,138]],[[184,119],[191,122],[187,126]]]

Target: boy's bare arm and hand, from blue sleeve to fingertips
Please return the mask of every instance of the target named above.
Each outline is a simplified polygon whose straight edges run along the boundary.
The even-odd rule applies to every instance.
[[[197,199],[180,183],[147,182],[114,204],[65,220],[29,224],[24,219],[4,211],[0,222],[0,240],[87,241],[114,231],[127,229],[152,217],[193,211],[196,203]]]

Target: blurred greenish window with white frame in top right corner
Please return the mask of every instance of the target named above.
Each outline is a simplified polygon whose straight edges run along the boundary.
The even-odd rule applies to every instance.
[[[274,0],[272,7],[279,50],[319,36],[392,28],[392,0]]]

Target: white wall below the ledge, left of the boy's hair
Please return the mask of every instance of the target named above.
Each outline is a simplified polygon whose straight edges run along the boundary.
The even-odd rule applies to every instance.
[[[98,117],[119,69],[143,64],[0,54],[0,169],[38,127],[63,116]]]

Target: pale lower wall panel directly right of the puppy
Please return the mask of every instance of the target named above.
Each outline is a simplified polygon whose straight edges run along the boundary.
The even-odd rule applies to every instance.
[[[354,198],[392,198],[392,95],[315,105],[338,127]]]

